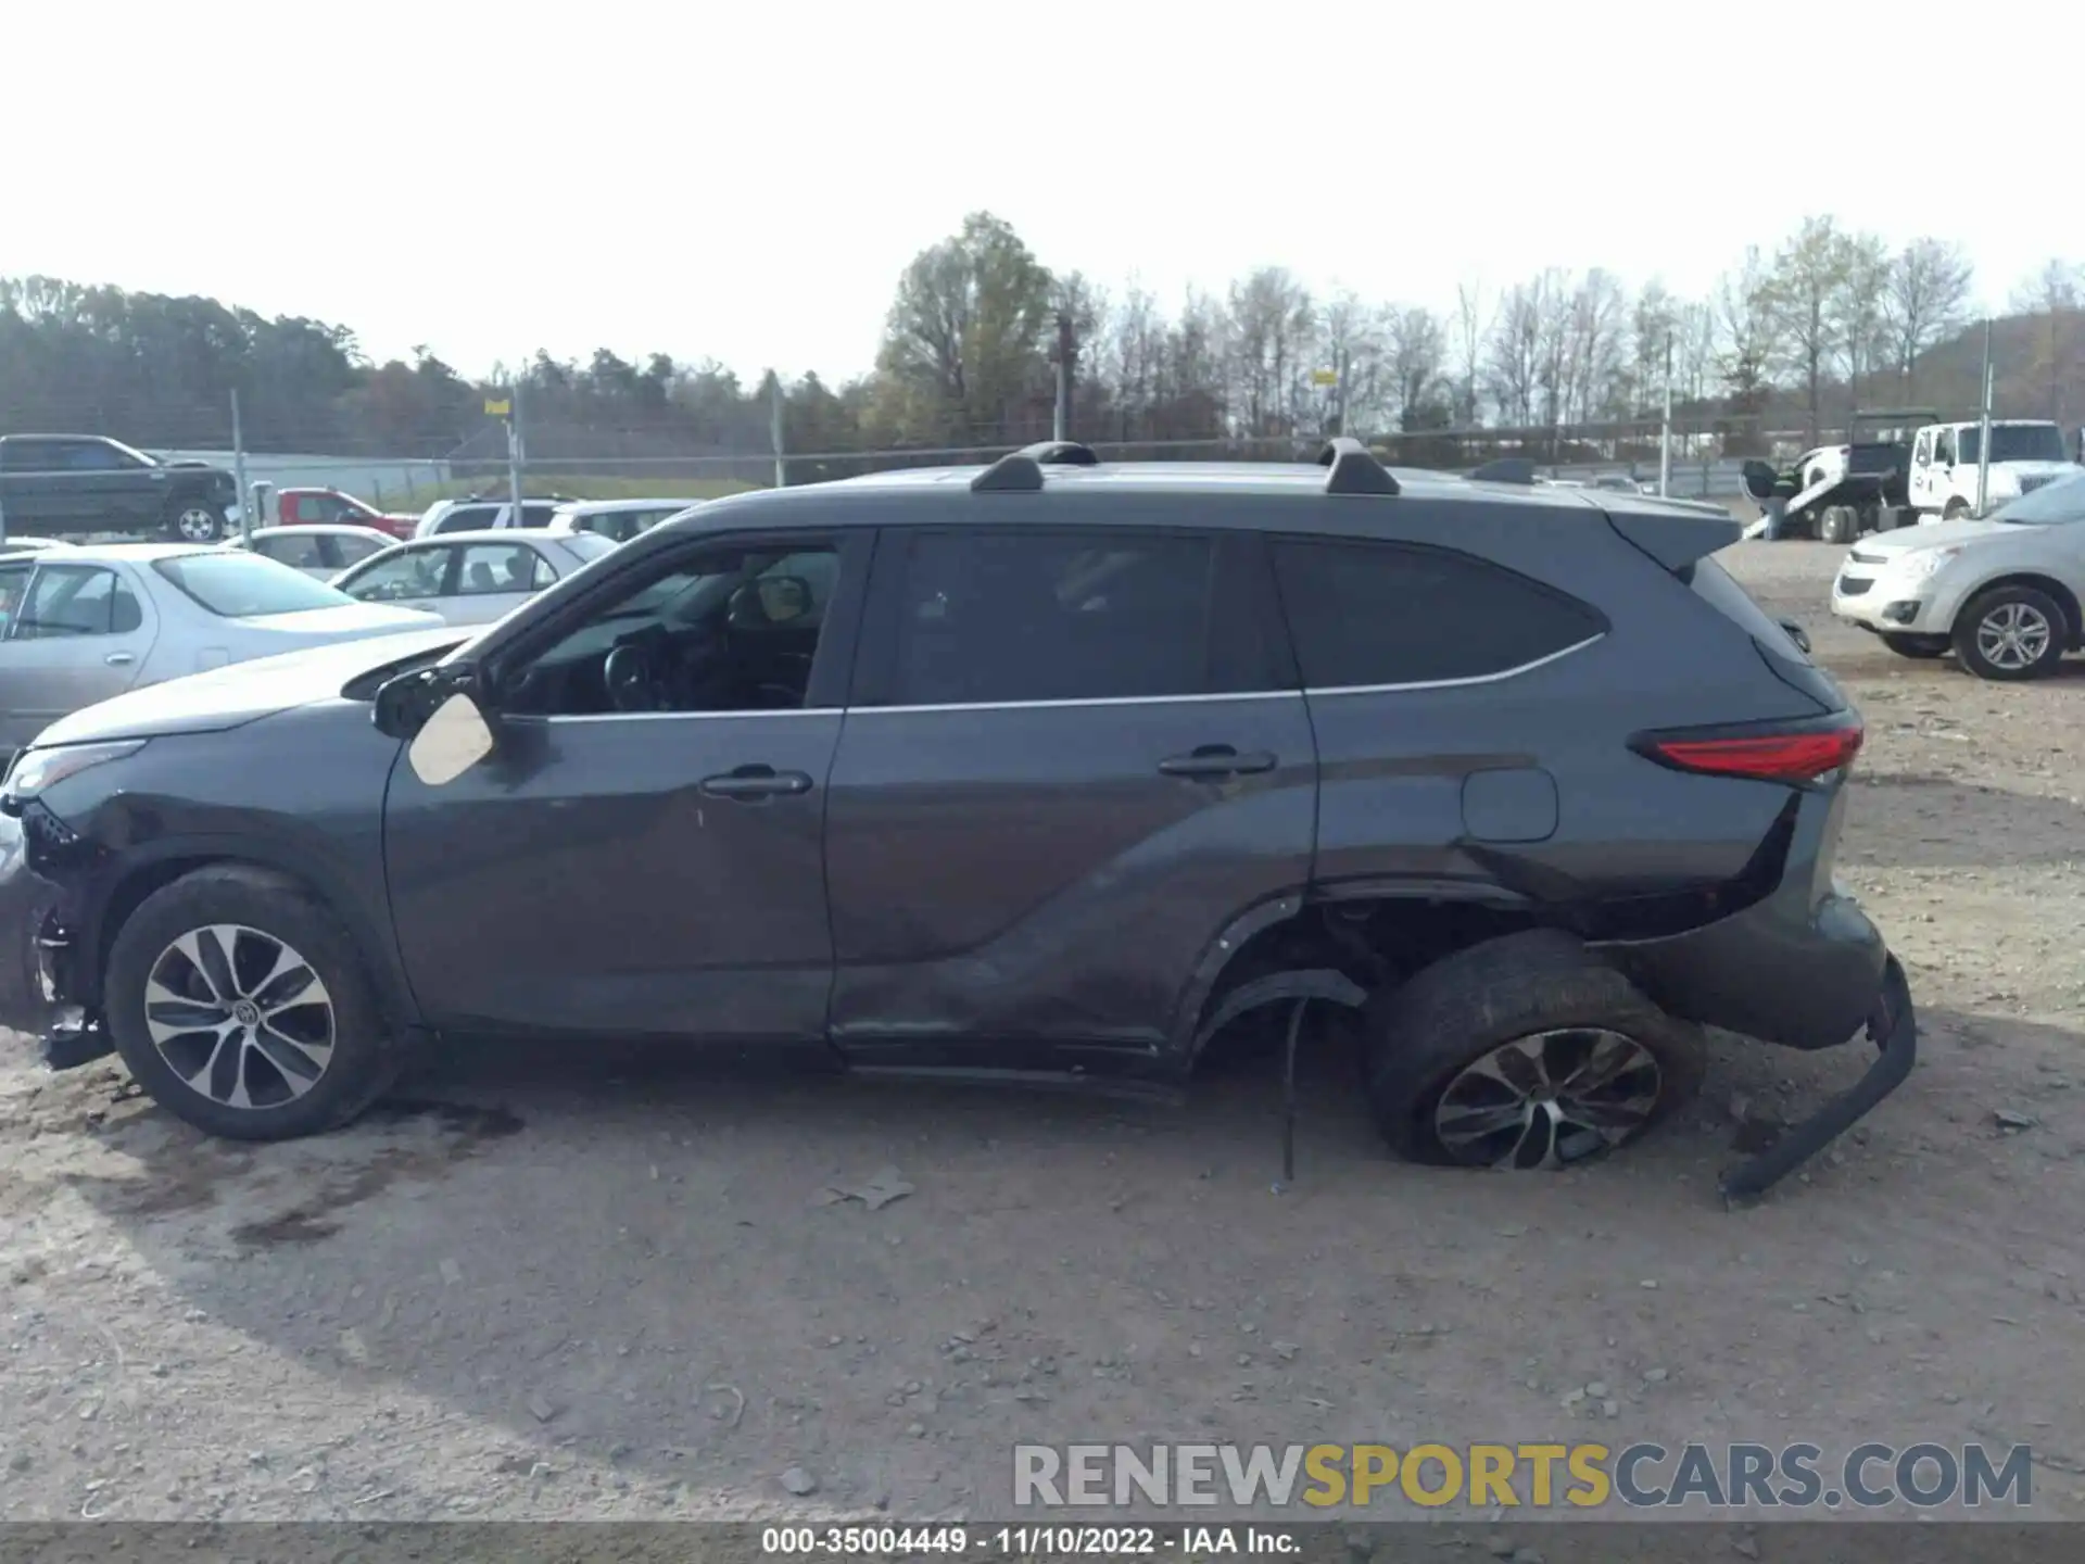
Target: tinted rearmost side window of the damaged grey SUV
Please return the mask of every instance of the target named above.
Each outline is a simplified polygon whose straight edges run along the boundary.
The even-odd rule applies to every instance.
[[[1314,690],[1497,678],[1608,632],[1591,605],[1453,548],[1278,538],[1274,576]]]

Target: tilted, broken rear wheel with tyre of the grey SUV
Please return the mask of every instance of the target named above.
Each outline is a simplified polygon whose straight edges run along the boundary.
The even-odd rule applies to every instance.
[[[1372,1001],[1364,1028],[1370,1105],[1412,1162],[1570,1166],[1701,1084],[1701,1034],[1555,930],[1434,961]]]

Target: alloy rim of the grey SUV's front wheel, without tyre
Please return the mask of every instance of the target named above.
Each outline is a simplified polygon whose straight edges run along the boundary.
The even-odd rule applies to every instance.
[[[242,924],[175,938],[144,988],[146,1030],[190,1091],[225,1107],[279,1107],[334,1057],[334,999],[288,943]]]

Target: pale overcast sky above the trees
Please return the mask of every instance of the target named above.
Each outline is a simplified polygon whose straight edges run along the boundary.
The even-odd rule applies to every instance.
[[[1958,238],[1993,304],[2085,261],[2079,6],[1985,4],[1956,42],[1818,0],[4,10],[0,275],[465,371],[611,346],[838,380],[980,206],[1168,300],[1264,263],[1434,307],[1545,265],[1703,292],[1806,213]]]

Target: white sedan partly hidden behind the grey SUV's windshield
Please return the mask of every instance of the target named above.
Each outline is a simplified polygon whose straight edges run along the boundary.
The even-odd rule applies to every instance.
[[[492,624],[582,565],[613,555],[596,532],[444,532],[394,542],[334,578],[359,603],[440,613],[446,624]]]

